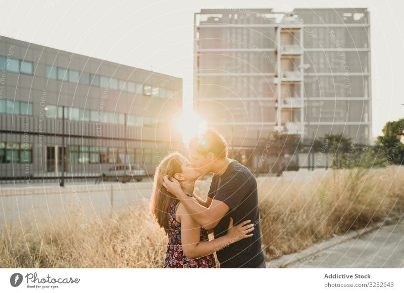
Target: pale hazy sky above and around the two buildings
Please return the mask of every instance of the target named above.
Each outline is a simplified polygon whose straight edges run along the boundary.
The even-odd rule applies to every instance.
[[[183,79],[192,104],[193,14],[209,8],[368,8],[373,136],[404,116],[404,3],[399,0],[2,1],[0,35]],[[401,90],[400,90],[401,89]]]

